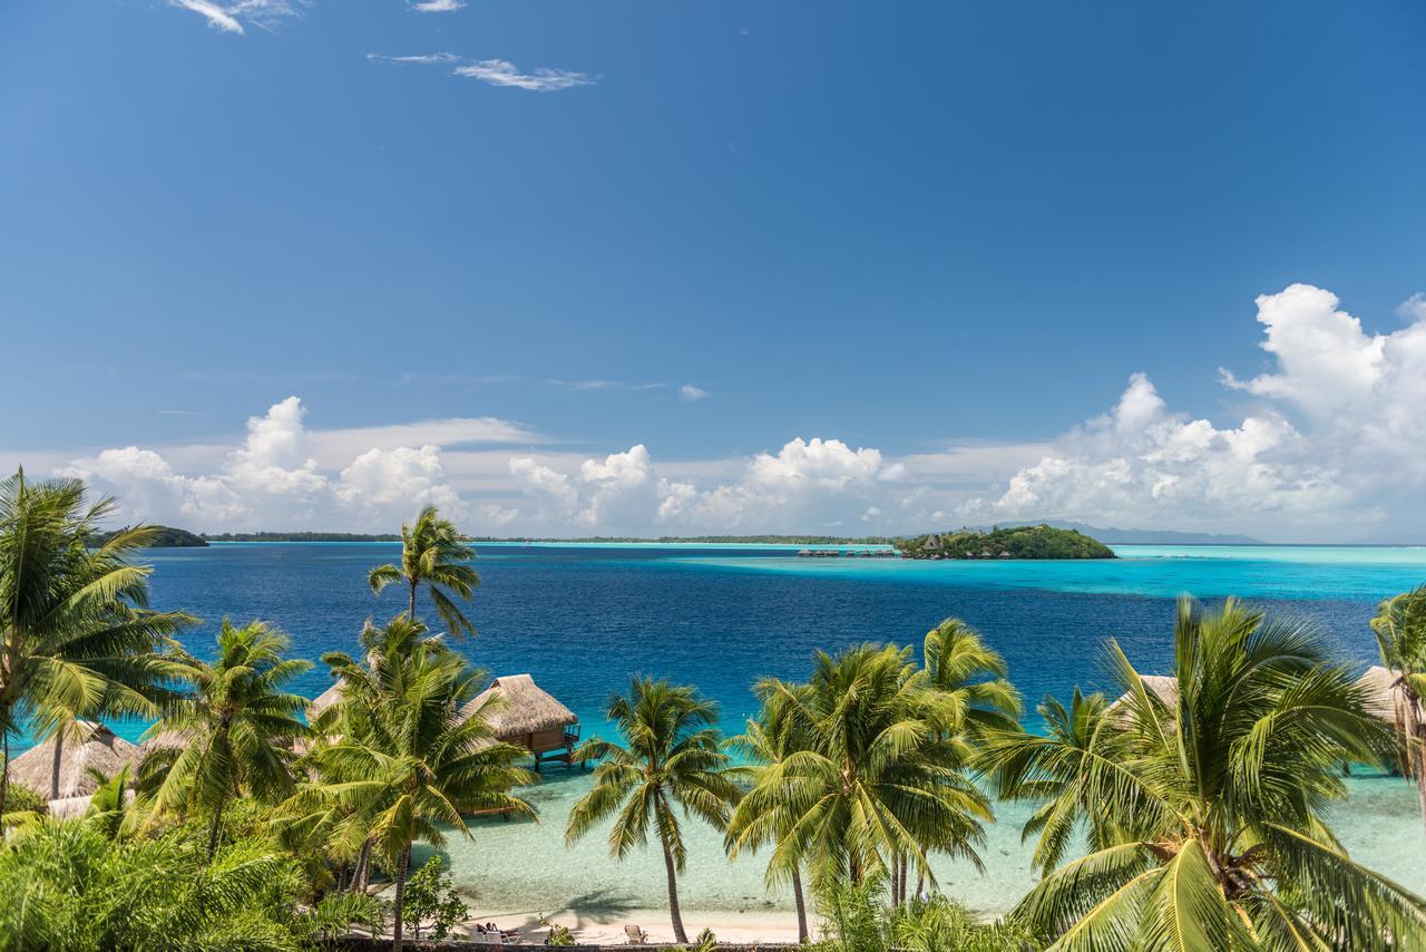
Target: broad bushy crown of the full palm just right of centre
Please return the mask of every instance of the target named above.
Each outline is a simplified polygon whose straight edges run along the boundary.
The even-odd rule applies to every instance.
[[[774,805],[793,814],[774,866],[809,864],[819,889],[844,876],[860,883],[903,858],[931,878],[933,849],[980,866],[992,814],[967,775],[958,705],[927,689],[910,658],[910,648],[857,645],[819,652],[804,685],[757,685],[764,711],[806,738],[760,771],[739,805],[740,816]]]

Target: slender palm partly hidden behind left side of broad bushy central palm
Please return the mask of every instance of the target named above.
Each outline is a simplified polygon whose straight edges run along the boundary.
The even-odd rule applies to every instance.
[[[786,788],[777,786],[771,779],[773,769],[783,766],[790,756],[807,749],[807,738],[799,736],[781,724],[780,715],[787,711],[786,705],[764,708],[756,719],[747,721],[747,728],[739,736],[732,738],[730,746],[743,754],[752,762],[752,786],[763,786],[780,795],[760,796],[757,799],[742,799],[733,809],[727,822],[727,836],[724,846],[729,858],[737,858],[743,849],[756,851],[770,842],[777,842],[787,834],[797,814],[793,808],[801,791],[796,778],[784,778]],[[791,866],[769,864],[767,885],[776,886],[789,881],[793,888],[793,901],[797,906],[797,941],[807,942],[807,901],[803,895],[801,865]]]

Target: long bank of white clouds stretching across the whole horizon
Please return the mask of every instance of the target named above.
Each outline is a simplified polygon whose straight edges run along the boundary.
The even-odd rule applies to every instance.
[[[1048,445],[967,444],[890,458],[796,437],[749,458],[602,457],[489,417],[309,430],[298,397],[228,448],[137,445],[56,471],[120,495],[124,518],[222,530],[391,530],[436,504],[472,534],[906,532],[1024,518],[1248,532],[1275,541],[1420,535],[1426,298],[1368,334],[1330,291],[1258,298],[1273,364],[1239,378],[1226,424],[1171,410],[1142,373]],[[686,400],[706,397],[684,387]],[[1410,522],[1416,520],[1416,522]]]

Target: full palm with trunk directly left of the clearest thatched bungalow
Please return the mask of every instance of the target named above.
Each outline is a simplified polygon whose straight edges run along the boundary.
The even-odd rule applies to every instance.
[[[411,845],[443,845],[442,825],[469,838],[465,816],[479,811],[533,815],[511,794],[535,779],[513,766],[528,752],[495,739],[489,716],[498,701],[475,704],[485,675],[424,634],[401,617],[368,632],[366,661],[324,657],[344,682],[341,736],[318,742],[307,758],[318,779],[282,809],[337,854],[354,855],[366,842],[381,851],[396,881],[398,951]]]

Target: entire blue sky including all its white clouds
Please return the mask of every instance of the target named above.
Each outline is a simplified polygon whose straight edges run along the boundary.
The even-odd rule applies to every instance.
[[[1426,6],[14,0],[0,467],[124,520],[1426,542]]]

